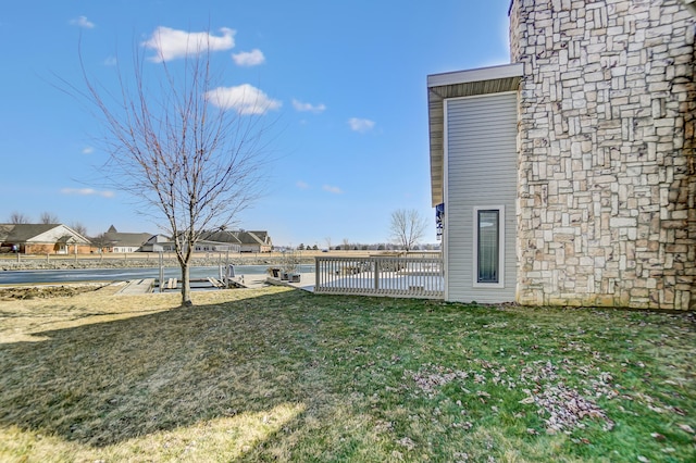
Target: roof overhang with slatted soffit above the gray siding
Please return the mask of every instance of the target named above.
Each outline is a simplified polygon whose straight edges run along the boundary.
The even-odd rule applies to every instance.
[[[427,113],[431,148],[433,207],[444,202],[445,100],[448,98],[517,91],[524,73],[522,63],[480,67],[427,76]]]

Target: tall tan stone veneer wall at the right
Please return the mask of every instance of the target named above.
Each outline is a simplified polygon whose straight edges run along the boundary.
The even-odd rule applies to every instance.
[[[694,18],[678,0],[513,0],[518,301],[696,308]]]

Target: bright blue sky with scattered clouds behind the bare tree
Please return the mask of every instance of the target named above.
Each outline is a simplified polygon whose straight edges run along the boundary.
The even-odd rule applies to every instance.
[[[113,79],[153,34],[210,33],[227,88],[269,99],[275,161],[239,226],[276,245],[389,240],[389,215],[431,224],[426,76],[509,62],[509,0],[23,0],[0,15],[0,222],[14,211],[79,222],[90,235],[157,233],[123,193],[92,185],[102,128],[57,89]],[[175,60],[175,43],[165,49]],[[146,66],[161,65],[148,61]],[[110,80],[111,79],[111,80]],[[244,86],[244,87],[243,87]],[[250,86],[250,87],[249,87]]]

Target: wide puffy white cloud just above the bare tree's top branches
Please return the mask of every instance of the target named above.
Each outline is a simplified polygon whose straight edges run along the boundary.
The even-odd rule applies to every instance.
[[[148,40],[142,42],[142,46],[154,50],[156,54],[150,57],[150,61],[156,63],[184,58],[188,54],[234,48],[236,30],[223,27],[220,33],[221,36],[214,36],[209,33],[187,33],[160,26],[154,29]]]

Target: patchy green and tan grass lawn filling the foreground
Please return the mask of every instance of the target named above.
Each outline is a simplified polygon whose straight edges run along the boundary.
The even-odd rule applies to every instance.
[[[287,288],[0,301],[0,461],[696,461],[696,324]]]

